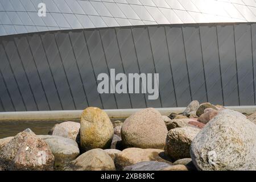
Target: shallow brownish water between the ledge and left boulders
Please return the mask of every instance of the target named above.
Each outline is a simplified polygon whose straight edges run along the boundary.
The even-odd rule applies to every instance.
[[[111,119],[112,121],[123,121],[124,119]],[[70,121],[70,120],[69,120]],[[79,122],[79,119],[73,119]],[[21,131],[30,128],[37,135],[47,135],[48,131],[57,124],[65,121],[1,121],[0,122],[0,139],[13,137]]]

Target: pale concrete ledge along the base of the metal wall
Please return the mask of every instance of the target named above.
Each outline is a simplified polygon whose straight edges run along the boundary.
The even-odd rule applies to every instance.
[[[227,109],[239,111],[240,113],[252,114],[256,112],[256,106],[226,106]],[[162,115],[170,113],[181,113],[185,107],[156,108]],[[106,109],[110,118],[126,118],[141,109]],[[82,110],[60,110],[60,111],[18,111],[0,113],[0,121],[53,121],[79,119]]]

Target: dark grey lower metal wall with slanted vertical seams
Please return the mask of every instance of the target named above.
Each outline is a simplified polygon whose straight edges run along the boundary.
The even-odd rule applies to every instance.
[[[154,25],[0,36],[0,111],[255,105],[256,23]],[[158,100],[98,94],[96,77],[159,73]]]

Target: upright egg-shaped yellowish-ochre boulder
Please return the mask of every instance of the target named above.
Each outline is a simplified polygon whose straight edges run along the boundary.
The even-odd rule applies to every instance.
[[[105,111],[97,107],[86,108],[81,115],[81,150],[109,148],[113,138],[113,125]]]

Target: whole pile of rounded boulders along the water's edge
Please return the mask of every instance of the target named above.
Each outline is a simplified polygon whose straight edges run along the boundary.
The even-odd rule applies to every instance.
[[[183,113],[146,108],[124,122],[86,108],[48,135],[0,139],[0,171],[256,170],[256,113],[192,101]]]

